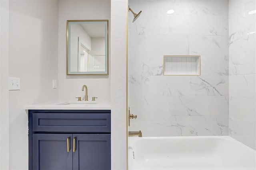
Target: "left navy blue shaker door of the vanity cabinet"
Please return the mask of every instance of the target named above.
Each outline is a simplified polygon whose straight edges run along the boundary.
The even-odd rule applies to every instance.
[[[33,134],[33,170],[72,170],[72,134]]]

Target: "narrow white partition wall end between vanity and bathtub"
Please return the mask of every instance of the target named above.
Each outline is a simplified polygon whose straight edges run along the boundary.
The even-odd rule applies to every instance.
[[[111,1],[111,167],[126,169],[126,0]]]

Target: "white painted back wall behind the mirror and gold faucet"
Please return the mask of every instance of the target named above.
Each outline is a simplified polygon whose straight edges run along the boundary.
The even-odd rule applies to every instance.
[[[82,86],[86,84],[89,100],[91,100],[92,96],[98,97],[97,100],[110,100],[111,72],[109,72],[108,76],[66,76],[67,20],[110,21],[110,0],[61,0],[59,1],[58,22],[58,98],[75,99],[78,96],[84,98]]]

